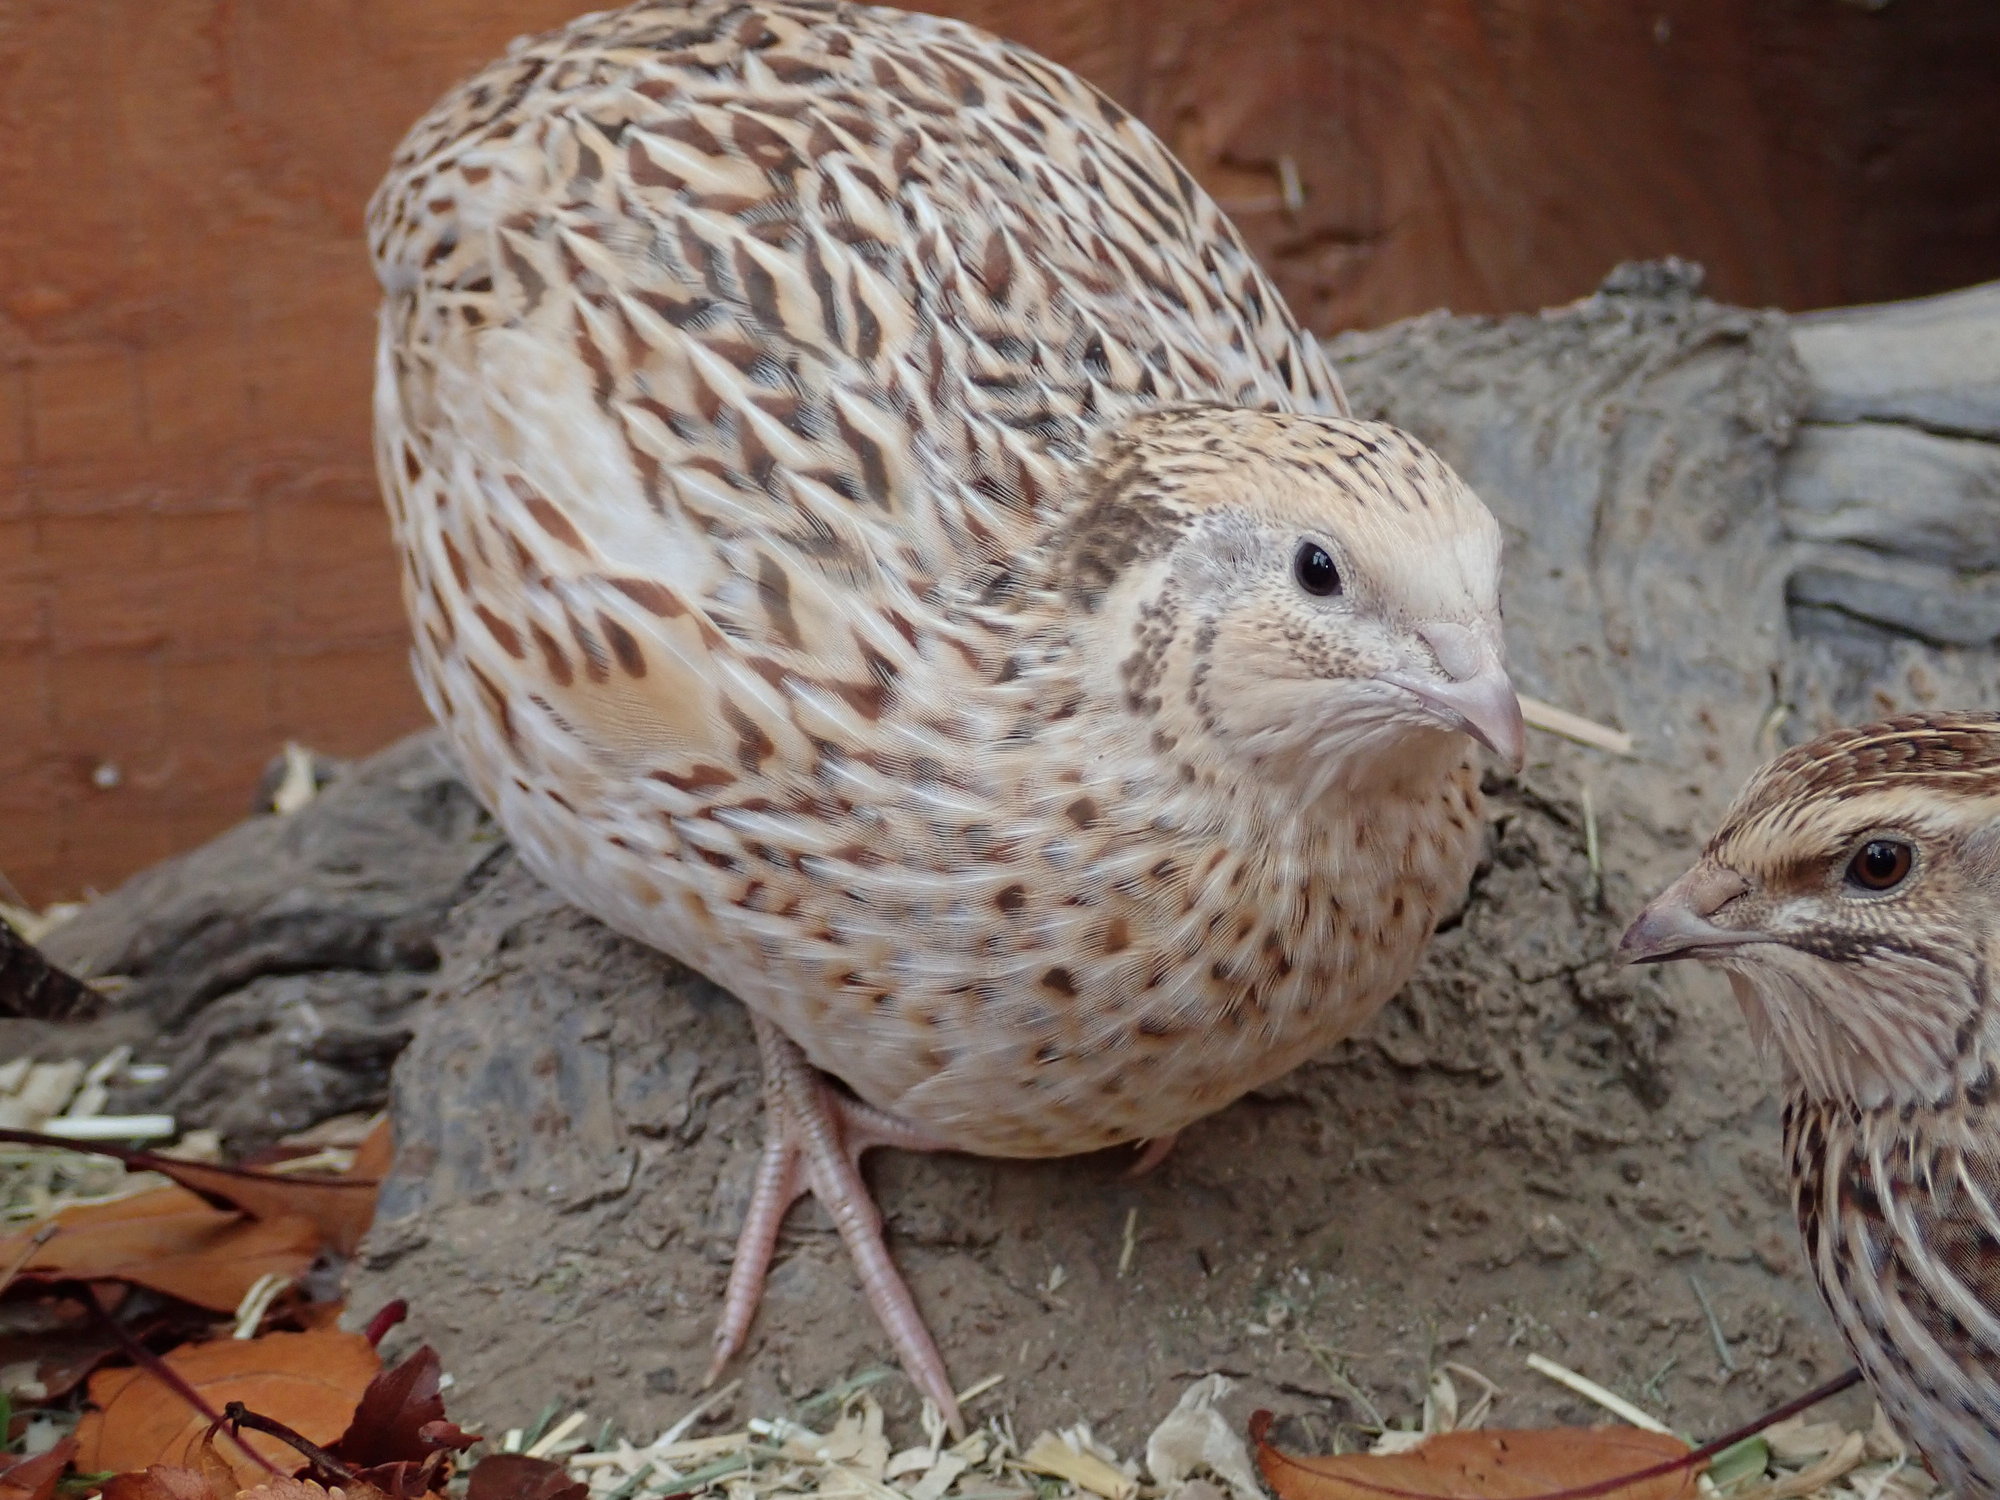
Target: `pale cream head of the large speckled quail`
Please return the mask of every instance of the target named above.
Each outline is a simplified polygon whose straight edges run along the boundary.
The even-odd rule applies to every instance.
[[[1184,754],[1298,788],[1520,758],[1500,528],[1378,422],[1180,406],[1102,444],[1052,536],[1102,698]],[[1424,756],[1430,742],[1436,756]]]

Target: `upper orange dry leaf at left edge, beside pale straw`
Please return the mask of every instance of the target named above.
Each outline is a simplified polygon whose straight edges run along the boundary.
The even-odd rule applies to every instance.
[[[258,1276],[302,1276],[320,1250],[312,1220],[248,1220],[186,1188],[66,1208],[54,1222],[54,1238],[28,1254],[24,1280],[136,1282],[212,1312],[234,1312]],[[0,1264],[12,1264],[34,1232],[0,1240]]]

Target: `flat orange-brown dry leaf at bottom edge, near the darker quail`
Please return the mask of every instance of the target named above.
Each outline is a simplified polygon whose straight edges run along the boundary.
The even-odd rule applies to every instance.
[[[1640,1428],[1440,1432],[1404,1454],[1300,1458],[1264,1442],[1270,1412],[1250,1418],[1256,1462],[1280,1500],[1522,1500],[1638,1474],[1688,1452],[1680,1438]],[[1694,1466],[1622,1484],[1616,1500],[1694,1494]]]

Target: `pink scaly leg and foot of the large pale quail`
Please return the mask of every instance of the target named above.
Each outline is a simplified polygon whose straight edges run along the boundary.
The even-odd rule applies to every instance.
[[[952,1432],[962,1436],[964,1418],[952,1380],[910,1286],[888,1258],[882,1214],[860,1174],[860,1156],[874,1146],[918,1152],[948,1148],[906,1120],[836,1092],[792,1038],[762,1016],[752,1016],[750,1022],[764,1060],[764,1156],[758,1160],[750,1212],[730,1262],[730,1286],[716,1326],[716,1356],[702,1384],[712,1384],[748,1338],[750,1318],[764,1294],[764,1274],[778,1248],[778,1228],[786,1210],[810,1192],[854,1256],[868,1304],[882,1320],[910,1380],[936,1402]]]

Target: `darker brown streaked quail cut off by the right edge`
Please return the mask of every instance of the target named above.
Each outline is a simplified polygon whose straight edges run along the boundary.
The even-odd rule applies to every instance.
[[[2000,1498],[2000,716],[1778,756],[1622,952],[1728,974],[1834,1322],[1954,1496]]]

